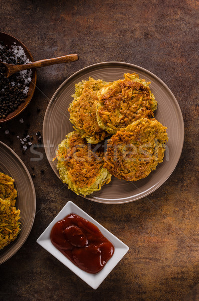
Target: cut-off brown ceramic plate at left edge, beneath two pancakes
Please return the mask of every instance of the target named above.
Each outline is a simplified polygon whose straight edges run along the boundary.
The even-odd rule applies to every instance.
[[[11,258],[27,239],[35,218],[36,195],[31,176],[22,160],[6,144],[0,142],[0,171],[11,176],[17,190],[16,209],[20,209],[21,231],[13,242],[0,250],[0,264]]]

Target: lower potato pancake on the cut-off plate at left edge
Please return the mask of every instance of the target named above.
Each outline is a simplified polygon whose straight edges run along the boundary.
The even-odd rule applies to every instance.
[[[15,240],[20,232],[20,210],[0,198],[0,249]]]

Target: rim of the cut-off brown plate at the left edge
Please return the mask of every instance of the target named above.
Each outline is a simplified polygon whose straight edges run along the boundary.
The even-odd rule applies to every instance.
[[[23,166],[24,170],[26,171],[26,174],[27,174],[27,176],[28,176],[28,178],[29,178],[29,180],[30,180],[30,183],[31,183],[31,187],[32,187],[32,189],[33,189],[33,200],[34,200],[34,212],[33,212],[33,213],[34,213],[34,214],[33,214],[33,217],[32,217],[31,224],[30,224],[30,226],[29,226],[29,230],[28,230],[28,232],[26,233],[24,239],[22,240],[22,243],[18,246],[18,248],[17,248],[14,252],[12,252],[12,249],[10,250],[10,251],[11,251],[11,254],[9,254],[8,258],[6,258],[6,259],[1,259],[1,258],[0,258],[0,265],[1,265],[2,263],[6,262],[7,260],[9,260],[9,259],[10,259],[14,254],[16,254],[17,251],[19,251],[19,249],[23,246],[23,244],[24,244],[25,241],[27,240],[27,238],[28,238],[28,236],[29,236],[29,234],[30,234],[30,232],[31,232],[31,230],[32,230],[33,223],[34,223],[34,220],[35,220],[35,214],[36,214],[36,192],[35,192],[35,186],[34,186],[34,183],[33,183],[32,178],[31,178],[31,175],[30,175],[30,173],[29,173],[29,171],[28,171],[26,165],[25,165],[24,162],[22,161],[22,159],[14,152],[14,150],[13,150],[12,148],[10,148],[8,145],[6,145],[5,143],[3,143],[2,141],[0,141],[0,145],[1,145],[1,144],[2,144],[4,147],[6,147],[6,148],[9,150],[9,152],[13,153],[13,155],[17,158],[17,160],[21,163],[21,165]],[[3,250],[3,249],[2,249],[2,250]],[[10,251],[9,251],[9,252],[10,252]],[[3,255],[3,254],[2,254],[2,255]]]

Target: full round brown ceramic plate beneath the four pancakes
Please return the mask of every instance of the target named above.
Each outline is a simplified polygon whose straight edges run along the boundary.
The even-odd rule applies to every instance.
[[[104,62],[88,66],[70,76],[53,95],[44,117],[43,140],[49,163],[59,177],[55,157],[58,144],[73,130],[69,121],[68,107],[73,100],[75,84],[88,80],[89,76],[104,81],[123,79],[124,73],[136,72],[140,78],[150,81],[150,88],[158,102],[155,118],[167,126],[169,140],[163,163],[150,175],[136,182],[119,180],[104,185],[98,192],[86,196],[86,199],[109,204],[132,202],[149,195],[159,188],[175,169],[183,147],[184,123],[180,107],[170,89],[153,73],[136,65],[122,62]]]

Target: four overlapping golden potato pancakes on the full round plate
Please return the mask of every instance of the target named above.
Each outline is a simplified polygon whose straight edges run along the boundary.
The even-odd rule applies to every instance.
[[[90,77],[75,85],[68,109],[75,131],[59,144],[56,157],[60,178],[76,194],[100,190],[112,175],[143,179],[163,161],[167,128],[154,118],[157,101],[149,84],[125,73],[114,82]],[[105,151],[99,144],[104,141]]]

